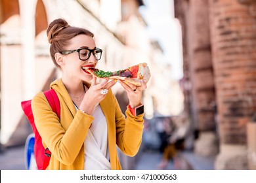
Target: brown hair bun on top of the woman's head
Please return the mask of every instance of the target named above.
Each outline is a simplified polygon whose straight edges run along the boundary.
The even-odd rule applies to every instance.
[[[47,29],[47,37],[49,43],[52,44],[54,36],[58,35],[58,33],[60,33],[60,31],[62,31],[63,29],[66,29],[66,27],[70,27],[70,25],[68,25],[68,22],[66,22],[66,20],[63,20],[61,18],[51,22]]]

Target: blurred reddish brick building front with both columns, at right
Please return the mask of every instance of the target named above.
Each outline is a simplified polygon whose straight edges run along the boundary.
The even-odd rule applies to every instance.
[[[182,25],[186,111],[195,151],[215,169],[247,169],[246,125],[256,111],[256,1],[175,0]]]

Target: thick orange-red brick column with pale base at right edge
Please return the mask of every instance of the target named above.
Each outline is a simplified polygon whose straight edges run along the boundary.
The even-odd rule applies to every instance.
[[[219,114],[215,169],[247,169],[246,124],[256,110],[256,3],[209,0]]]

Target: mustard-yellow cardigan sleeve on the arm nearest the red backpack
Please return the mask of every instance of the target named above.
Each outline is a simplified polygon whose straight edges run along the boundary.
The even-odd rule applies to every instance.
[[[71,165],[83,146],[87,131],[93,122],[93,116],[78,111],[70,122],[70,127],[65,130],[43,92],[37,93],[32,99],[32,111],[35,126],[44,146],[51,150],[58,161]]]

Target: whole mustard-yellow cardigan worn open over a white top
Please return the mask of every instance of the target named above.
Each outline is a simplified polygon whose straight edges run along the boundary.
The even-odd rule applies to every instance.
[[[52,152],[47,169],[84,169],[84,141],[93,123],[93,116],[75,110],[74,103],[61,79],[51,83],[51,88],[55,90],[60,100],[60,120],[51,109],[43,92],[37,93],[32,99],[35,125],[44,146]],[[111,169],[121,169],[116,144],[127,156],[137,154],[142,141],[143,114],[135,117],[127,109],[125,119],[111,90],[100,102],[100,107],[108,124]]]

